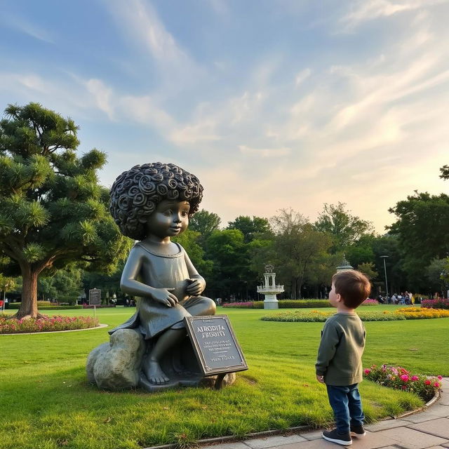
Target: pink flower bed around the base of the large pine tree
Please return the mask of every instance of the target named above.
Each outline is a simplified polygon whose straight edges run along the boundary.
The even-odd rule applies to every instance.
[[[91,316],[47,316],[40,319],[18,320],[0,314],[0,334],[29,332],[52,332],[55,330],[88,329],[99,326],[98,319]]]

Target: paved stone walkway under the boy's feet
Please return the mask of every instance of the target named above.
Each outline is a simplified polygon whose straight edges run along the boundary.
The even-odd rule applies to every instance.
[[[449,377],[443,379],[441,398],[421,413],[385,420],[365,427],[365,438],[352,438],[354,449],[449,448]],[[269,436],[237,443],[202,446],[201,449],[335,449],[345,446],[321,438],[321,430],[289,436]]]

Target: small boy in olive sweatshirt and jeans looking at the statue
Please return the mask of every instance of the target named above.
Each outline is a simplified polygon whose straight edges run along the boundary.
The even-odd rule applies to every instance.
[[[362,380],[361,356],[366,330],[355,309],[370,295],[370,281],[361,272],[347,270],[333,275],[329,302],[337,313],[325,323],[316,360],[316,380],[326,384],[336,428],[323,438],[340,445],[363,437],[363,408],[358,393]]]

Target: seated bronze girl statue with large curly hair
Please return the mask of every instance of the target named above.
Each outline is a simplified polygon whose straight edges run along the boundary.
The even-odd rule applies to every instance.
[[[122,234],[138,240],[123,268],[121,290],[141,300],[136,313],[109,333],[140,330],[149,341],[142,371],[153,384],[169,381],[161,359],[186,337],[184,318],[215,314],[215,302],[201,296],[206,281],[184,248],[170,240],[187,229],[202,196],[198,178],[172,163],[135,166],[112,185],[111,214]]]

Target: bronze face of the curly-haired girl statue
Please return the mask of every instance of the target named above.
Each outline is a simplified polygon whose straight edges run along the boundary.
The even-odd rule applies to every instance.
[[[189,225],[190,204],[187,201],[163,200],[147,221],[147,235],[165,239],[175,237]]]

